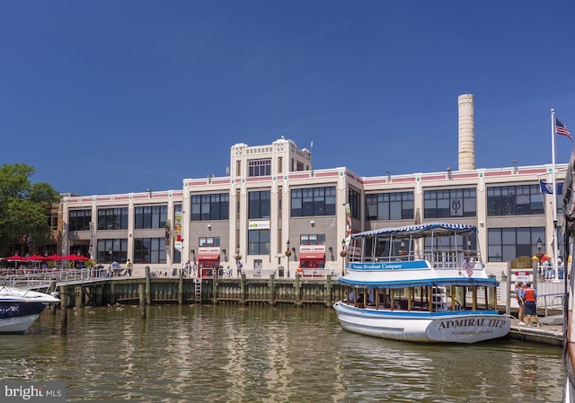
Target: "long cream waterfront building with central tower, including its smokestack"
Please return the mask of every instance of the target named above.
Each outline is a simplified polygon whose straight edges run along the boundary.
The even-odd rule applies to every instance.
[[[60,252],[170,272],[190,260],[200,276],[218,266],[234,270],[236,258],[256,271],[339,275],[349,226],[361,232],[442,221],[478,227],[477,239],[464,241],[472,250],[478,244],[488,269],[534,255],[539,240],[553,256],[561,195],[540,187],[553,183],[553,166],[475,168],[473,95],[458,101],[457,169],[363,177],[346,167],[315,170],[312,153],[283,136],[270,145],[236,144],[226,177],[184,179],[173,190],[66,195]],[[566,164],[554,168],[562,183]]]

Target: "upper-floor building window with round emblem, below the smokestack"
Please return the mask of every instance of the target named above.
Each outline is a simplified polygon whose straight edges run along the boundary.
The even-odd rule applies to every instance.
[[[477,216],[477,196],[475,188],[452,188],[426,190],[423,192],[424,217],[475,217]]]

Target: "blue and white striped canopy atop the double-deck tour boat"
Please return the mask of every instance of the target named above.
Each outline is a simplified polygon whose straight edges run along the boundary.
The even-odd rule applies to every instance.
[[[477,232],[477,227],[471,224],[463,223],[420,223],[417,225],[405,225],[403,227],[381,228],[366,232],[358,232],[351,235],[351,239],[373,237],[378,235],[397,235],[411,236],[411,238],[423,238],[441,236],[456,233],[464,235],[466,233]]]

